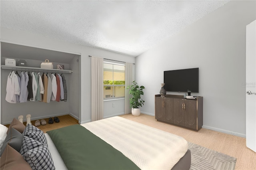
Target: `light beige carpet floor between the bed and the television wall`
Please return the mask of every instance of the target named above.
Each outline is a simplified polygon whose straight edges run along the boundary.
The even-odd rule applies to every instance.
[[[245,138],[204,128],[195,132],[186,128],[155,121],[153,116],[144,114],[141,114],[138,117],[134,117],[131,114],[121,115],[121,117],[158,128],[166,132],[177,134],[185,138],[188,142],[235,157],[237,158],[236,170],[256,170],[256,153],[246,147]]]

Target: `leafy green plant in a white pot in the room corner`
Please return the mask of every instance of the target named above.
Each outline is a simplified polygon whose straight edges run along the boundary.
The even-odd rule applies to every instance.
[[[140,108],[144,105],[144,100],[140,98],[140,95],[144,95],[143,89],[144,86],[139,86],[136,81],[132,81],[132,85],[128,86],[127,89],[129,90],[129,94],[132,95],[130,98],[130,107],[132,108],[132,115],[139,116],[140,115]]]

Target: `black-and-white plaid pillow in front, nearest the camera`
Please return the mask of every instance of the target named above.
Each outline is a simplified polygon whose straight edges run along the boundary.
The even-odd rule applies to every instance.
[[[22,154],[32,170],[55,170],[52,155],[46,144],[24,136],[20,154]]]

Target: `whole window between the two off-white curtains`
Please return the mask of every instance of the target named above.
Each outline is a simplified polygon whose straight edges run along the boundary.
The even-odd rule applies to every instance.
[[[103,85],[104,99],[124,97],[125,65],[104,62]]]

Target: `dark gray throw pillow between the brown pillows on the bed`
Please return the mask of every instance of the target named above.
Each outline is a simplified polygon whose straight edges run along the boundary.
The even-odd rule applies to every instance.
[[[4,149],[6,148],[6,146],[9,144],[12,148],[14,148],[15,150],[17,150],[18,152],[20,152],[20,148],[22,146],[22,140],[23,140],[23,135],[16,130],[15,128],[10,128],[3,146],[1,148],[1,156],[4,152]]]

